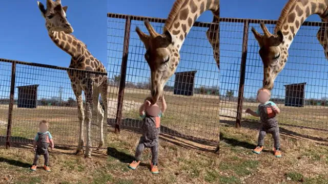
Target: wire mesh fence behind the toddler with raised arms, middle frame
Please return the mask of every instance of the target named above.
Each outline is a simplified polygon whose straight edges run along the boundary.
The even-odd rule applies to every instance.
[[[128,61],[126,67],[125,93],[122,110],[122,125],[126,128],[141,126],[138,108],[150,96],[150,68],[145,60],[146,49],[135,32],[136,26],[148,33],[143,20],[146,17],[109,14],[108,44],[123,43],[125,23],[131,19]],[[154,29],[161,33],[164,19],[148,18]],[[206,37],[208,23],[196,22],[189,32],[180,51],[180,62],[165,86],[164,97],[168,110],[161,119],[161,132],[175,136],[189,137],[215,142],[219,135],[219,88],[220,73],[213,57],[213,49]],[[121,54],[123,47],[109,50],[108,77],[112,81],[112,96],[118,94],[120,64],[115,55]],[[233,68],[233,66],[231,66]],[[229,68],[229,69],[231,69]],[[227,70],[227,69],[226,69]],[[222,70],[221,70],[222,71]],[[223,73],[224,74],[224,73]],[[115,85],[116,84],[116,85]],[[116,90],[115,90],[116,89]],[[116,92],[115,92],[116,91]],[[160,102],[159,102],[160,104]],[[115,108],[115,107],[114,107]],[[114,123],[115,121],[112,121]]]

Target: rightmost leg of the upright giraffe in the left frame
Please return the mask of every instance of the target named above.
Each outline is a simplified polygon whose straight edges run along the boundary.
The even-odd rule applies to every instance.
[[[106,76],[105,76],[106,77]],[[100,107],[101,112],[103,112],[103,119],[99,122],[99,134],[100,134],[100,142],[98,145],[98,148],[101,148],[104,145],[104,122],[105,125],[107,125],[107,109],[108,109],[108,105],[107,105],[107,77],[106,80],[103,82],[103,84],[100,86],[100,95],[101,95],[101,99],[103,100],[103,105],[105,107],[105,110],[103,110],[103,107]]]

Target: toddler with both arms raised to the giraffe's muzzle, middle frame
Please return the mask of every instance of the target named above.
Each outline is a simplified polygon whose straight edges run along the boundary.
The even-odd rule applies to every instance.
[[[141,153],[145,148],[152,150],[152,163],[150,170],[153,174],[158,174],[158,135],[160,127],[160,118],[162,113],[166,110],[166,101],[164,97],[161,98],[161,108],[155,103],[152,103],[151,97],[145,99],[144,104],[139,108],[139,115],[143,119],[141,126],[142,136],[135,151],[135,160],[129,165],[130,169],[136,169],[141,160]]]

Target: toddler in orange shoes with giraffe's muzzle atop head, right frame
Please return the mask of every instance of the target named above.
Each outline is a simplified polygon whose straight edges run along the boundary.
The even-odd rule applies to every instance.
[[[263,149],[265,134],[271,133],[274,140],[274,154],[275,157],[281,157],[281,152],[279,150],[279,126],[278,121],[275,118],[276,114],[280,113],[280,109],[277,105],[271,101],[270,90],[261,88],[257,91],[257,101],[260,102],[258,109],[255,111],[247,109],[245,112],[250,113],[255,117],[260,117],[261,128],[258,135],[258,145],[253,150],[254,153],[260,154]]]

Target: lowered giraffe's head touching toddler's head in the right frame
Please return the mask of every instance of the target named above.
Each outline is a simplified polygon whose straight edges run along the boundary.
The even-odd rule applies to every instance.
[[[271,90],[279,72],[285,66],[288,49],[283,45],[283,35],[280,30],[271,34],[261,22],[264,35],[259,34],[254,28],[252,32],[260,46],[259,54],[263,62],[263,87]]]

